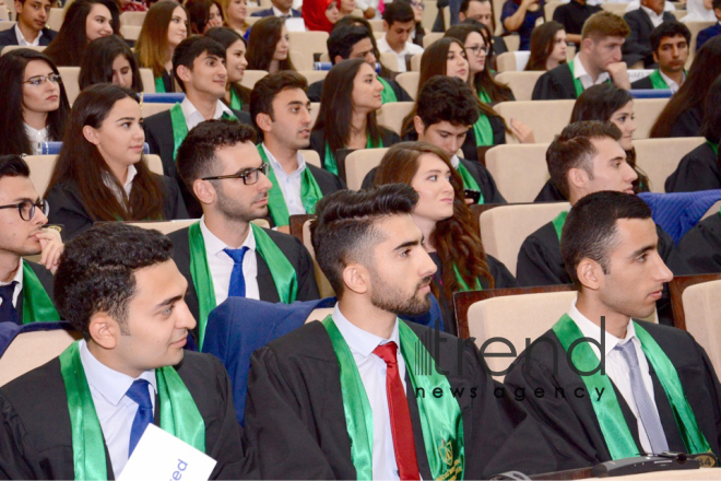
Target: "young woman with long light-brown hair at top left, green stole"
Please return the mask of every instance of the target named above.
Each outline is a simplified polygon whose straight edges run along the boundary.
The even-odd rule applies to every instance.
[[[173,52],[188,36],[188,12],[180,3],[161,1],[150,8],[135,52],[140,67],[153,70],[155,92],[175,92]]]

